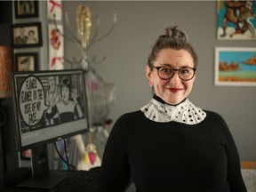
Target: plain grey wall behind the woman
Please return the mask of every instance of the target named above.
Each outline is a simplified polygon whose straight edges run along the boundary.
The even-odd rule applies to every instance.
[[[97,66],[97,70],[106,81],[116,84],[116,102],[109,117],[115,121],[125,112],[137,110],[148,103],[151,91],[144,67],[149,51],[156,37],[163,34],[164,24],[176,22],[188,32],[189,41],[199,55],[196,83],[189,99],[198,107],[220,113],[233,133],[241,160],[256,161],[256,88],[214,85],[216,46],[255,47],[256,44],[255,40],[217,40],[217,2],[64,1],[74,30],[78,4],[91,8],[93,21],[96,15],[100,15],[100,36],[110,28],[113,12],[118,13],[113,33],[94,44],[90,51],[91,56],[97,55],[99,59],[108,56],[104,63]],[[67,28],[65,33],[68,35]],[[65,41],[65,56],[80,57],[76,45]],[[66,68],[70,68],[67,63]]]

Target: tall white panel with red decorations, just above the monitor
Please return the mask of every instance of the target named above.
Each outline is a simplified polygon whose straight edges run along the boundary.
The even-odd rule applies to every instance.
[[[48,36],[49,36],[49,68],[52,69],[63,69],[64,68],[64,39],[62,25],[48,25]]]

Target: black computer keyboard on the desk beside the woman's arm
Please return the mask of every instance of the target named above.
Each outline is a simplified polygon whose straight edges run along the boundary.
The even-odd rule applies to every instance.
[[[48,192],[92,192],[100,174],[100,167],[89,171],[76,171],[64,180],[60,180]]]

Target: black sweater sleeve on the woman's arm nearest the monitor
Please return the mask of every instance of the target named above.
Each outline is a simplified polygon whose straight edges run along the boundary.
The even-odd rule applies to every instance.
[[[95,192],[121,192],[130,180],[130,168],[127,155],[127,138],[125,116],[121,116],[114,124],[107,141],[102,159],[100,177]]]

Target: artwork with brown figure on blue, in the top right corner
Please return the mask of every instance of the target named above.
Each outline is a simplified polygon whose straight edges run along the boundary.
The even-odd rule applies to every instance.
[[[255,40],[255,1],[218,0],[217,38],[219,40]]]

